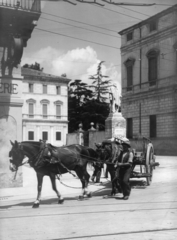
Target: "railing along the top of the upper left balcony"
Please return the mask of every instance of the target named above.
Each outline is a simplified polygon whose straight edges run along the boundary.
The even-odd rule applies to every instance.
[[[41,12],[41,0],[0,0],[1,6],[31,12]]]

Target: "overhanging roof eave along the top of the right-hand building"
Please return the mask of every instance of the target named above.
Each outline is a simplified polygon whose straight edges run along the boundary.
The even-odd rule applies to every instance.
[[[152,17],[149,17],[131,27],[123,29],[122,31],[118,32],[118,34],[124,35],[125,33],[129,32],[135,28],[139,28],[142,25],[145,25],[146,23],[148,23],[156,18],[160,18],[161,16],[165,15],[166,13],[170,13],[170,12],[174,12],[174,11],[177,11],[177,4],[173,5],[172,7],[167,8],[167,9],[163,10],[162,12],[159,12],[159,13],[153,15]]]

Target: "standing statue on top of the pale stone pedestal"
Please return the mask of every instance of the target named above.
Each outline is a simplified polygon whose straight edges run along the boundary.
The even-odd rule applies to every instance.
[[[114,85],[110,87],[110,91],[109,91],[110,113],[119,112],[120,103],[121,103],[120,99],[121,99],[121,95],[119,93],[117,83],[114,83]]]

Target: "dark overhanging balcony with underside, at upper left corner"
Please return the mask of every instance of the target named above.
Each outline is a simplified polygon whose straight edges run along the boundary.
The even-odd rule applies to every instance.
[[[11,37],[31,37],[41,14],[41,0],[0,0],[0,47],[9,47]]]

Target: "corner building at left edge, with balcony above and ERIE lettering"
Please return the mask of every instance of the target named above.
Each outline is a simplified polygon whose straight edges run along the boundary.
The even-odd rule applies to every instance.
[[[22,141],[20,62],[41,14],[40,0],[0,0],[0,188],[22,186],[9,170],[11,141]]]

